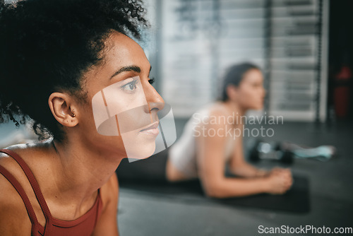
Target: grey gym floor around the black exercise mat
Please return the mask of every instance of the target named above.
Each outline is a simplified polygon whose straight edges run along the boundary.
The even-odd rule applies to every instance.
[[[177,120],[178,136],[184,124],[184,120]],[[267,127],[274,129],[275,135],[264,138],[265,141],[292,141],[306,146],[333,145],[337,148],[337,158],[328,162],[294,160],[288,166],[263,160],[256,164],[266,168],[275,165],[290,167],[294,175],[307,177],[310,184],[309,213],[234,208],[213,201],[184,201],[121,189],[118,212],[121,235],[261,235],[259,225],[268,228],[282,225],[292,228],[325,226],[331,230],[336,227],[352,228],[353,123],[340,122],[328,126],[285,122]]]

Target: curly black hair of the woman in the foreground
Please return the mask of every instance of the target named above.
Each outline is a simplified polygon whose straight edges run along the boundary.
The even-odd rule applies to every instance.
[[[85,100],[83,73],[102,61],[113,30],[140,39],[148,27],[138,0],[0,0],[0,123],[32,119],[40,140],[62,141],[49,95]]]

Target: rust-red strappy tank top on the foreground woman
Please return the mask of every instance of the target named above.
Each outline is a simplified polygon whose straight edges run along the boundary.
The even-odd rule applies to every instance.
[[[1,149],[0,152],[10,155],[13,159],[16,160],[18,165],[20,165],[30,182],[30,185],[32,186],[33,191],[35,192],[35,196],[37,197],[37,200],[40,203],[40,207],[42,208],[42,211],[44,213],[46,219],[45,228],[38,223],[37,216],[35,216],[35,211],[33,210],[32,204],[30,203],[27,194],[25,194],[23,187],[21,187],[18,180],[13,177],[13,175],[11,175],[8,170],[6,170],[0,165],[0,174],[4,175],[4,177],[8,179],[8,182],[10,182],[16,189],[16,191],[18,191],[18,194],[20,194],[20,197],[25,203],[25,208],[32,223],[32,236],[84,236],[92,234],[93,230],[95,229],[95,225],[97,224],[97,220],[100,216],[100,213],[102,212],[102,199],[100,198],[99,189],[97,200],[87,213],[85,213],[83,216],[76,220],[58,220],[52,217],[47,203],[44,200],[44,196],[40,191],[40,186],[38,185],[37,180],[35,179],[32,171],[25,163],[25,161],[13,151]]]

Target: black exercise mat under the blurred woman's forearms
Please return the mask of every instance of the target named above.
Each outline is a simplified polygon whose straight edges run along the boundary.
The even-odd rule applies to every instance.
[[[299,176],[294,176],[292,188],[283,195],[257,194],[227,199],[206,197],[203,194],[201,183],[197,179],[178,183],[121,179],[119,185],[122,191],[128,189],[129,191],[145,192],[146,194],[155,194],[181,201],[213,201],[227,206],[244,206],[292,213],[307,213],[310,211],[309,181],[306,177]]]

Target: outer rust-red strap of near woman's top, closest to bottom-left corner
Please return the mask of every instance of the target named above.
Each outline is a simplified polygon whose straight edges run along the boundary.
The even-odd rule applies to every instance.
[[[11,173],[8,172],[8,170],[6,170],[2,165],[0,165],[0,174],[3,175],[8,180],[8,182],[10,182],[12,186],[16,189],[18,194],[20,194],[20,197],[23,200],[23,203],[25,203],[25,208],[27,210],[28,216],[30,216],[30,222],[32,223],[31,235],[37,236],[38,235],[37,216],[35,216],[35,211],[33,210],[32,204],[30,203],[30,199],[28,199],[27,194],[25,194],[25,190],[17,181],[17,179],[13,177],[13,175],[11,175]]]

